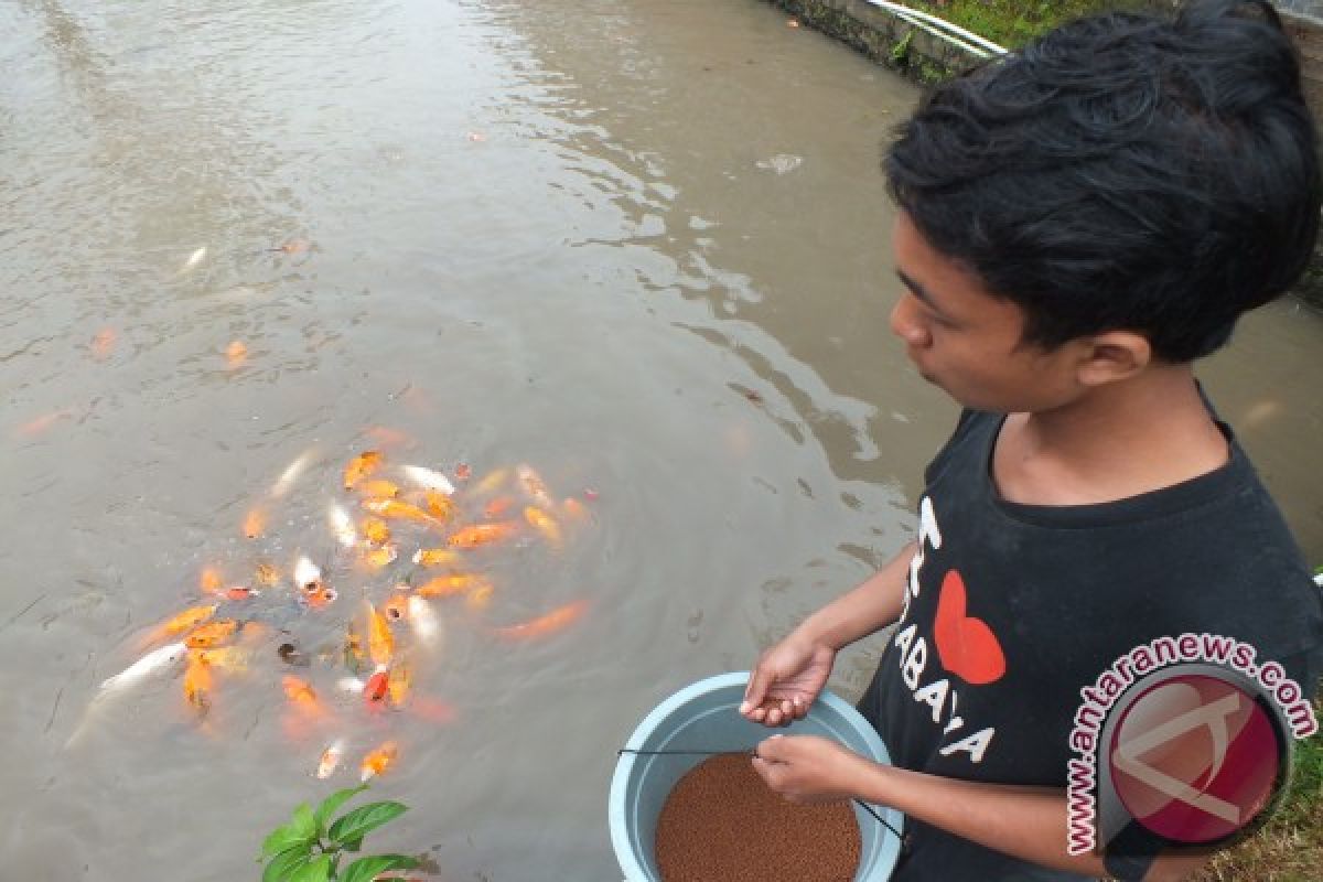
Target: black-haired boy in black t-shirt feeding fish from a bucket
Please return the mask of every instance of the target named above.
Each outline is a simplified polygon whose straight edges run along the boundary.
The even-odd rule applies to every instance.
[[[803,717],[836,651],[896,623],[860,703],[894,766],[787,737],[754,767],[902,811],[894,879],[1181,878],[1205,858],[1143,833],[1068,854],[1069,735],[1082,686],[1185,632],[1314,694],[1319,591],[1192,370],[1314,247],[1297,58],[1266,3],[1077,21],[938,89],[885,169],[892,331],[964,413],[918,538],[767,649],[741,713]]]

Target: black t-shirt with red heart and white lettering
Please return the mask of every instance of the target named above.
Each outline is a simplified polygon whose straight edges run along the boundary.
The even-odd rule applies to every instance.
[[[966,411],[925,472],[910,592],[860,709],[901,767],[1066,785],[1080,690],[1156,637],[1212,633],[1312,696],[1323,595],[1244,451],[1222,468],[1080,506],[1002,500],[1004,422]],[[1073,879],[918,821],[894,879]],[[1062,830],[1065,850],[1065,830]]]

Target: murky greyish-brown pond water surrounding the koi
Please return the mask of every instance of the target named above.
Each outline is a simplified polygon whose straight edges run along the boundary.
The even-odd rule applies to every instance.
[[[885,323],[877,144],[916,93],[771,7],[9,0],[0,61],[5,877],[249,878],[353,780],[311,778],[324,733],[274,653],[202,726],[169,676],[85,709],[202,566],[328,558],[364,447],[597,496],[562,553],[484,558],[488,607],[441,608],[417,690],[452,719],[332,700],[353,750],[401,744],[374,793],[413,811],[380,845],[447,879],[618,878],[639,717],[910,534],[954,414]],[[1320,340],[1287,303],[1205,372],[1314,557]],[[255,610],[316,652],[382,578]],[[491,632],[576,600],[541,640]]]

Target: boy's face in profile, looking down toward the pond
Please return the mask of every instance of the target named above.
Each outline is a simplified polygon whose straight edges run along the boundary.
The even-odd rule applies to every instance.
[[[934,250],[901,212],[892,234],[896,272],[905,292],[892,309],[892,331],[919,374],[966,407],[1036,413],[1069,403],[1078,346],[1021,344],[1020,307],[992,296],[983,282]]]

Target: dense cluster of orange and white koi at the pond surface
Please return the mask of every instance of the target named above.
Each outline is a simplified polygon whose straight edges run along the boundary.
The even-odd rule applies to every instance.
[[[245,538],[269,536],[275,509],[315,461],[316,450],[300,454],[245,512],[239,525]],[[245,678],[253,688],[251,673],[261,666],[282,672],[270,689],[284,705],[291,742],[318,744],[307,758],[311,774],[327,779],[347,772],[356,743],[361,782],[390,771],[400,759],[400,739],[381,739],[384,715],[388,722],[389,714],[400,714],[433,723],[455,717],[415,678],[425,677],[437,659],[446,606],[462,604],[497,641],[549,637],[573,627],[589,608],[578,599],[523,621],[482,619],[504,587],[483,571],[491,555],[509,543],[541,543],[560,553],[566,538],[590,521],[585,500],[591,502],[597,493],[557,501],[528,464],[476,480],[471,475],[466,464],[447,475],[390,463],[380,450],[355,455],[340,471],[327,509],[333,543],[325,545],[337,547],[329,559],[296,553],[287,567],[266,559],[245,562],[245,571],[228,571],[220,563],[201,567],[196,602],[128,641],[136,660],[101,684],[69,746],[115,696],[169,674],[180,680],[188,718],[205,727],[224,684]],[[298,645],[292,631],[282,627],[290,615],[332,616],[343,627],[337,651]],[[356,729],[376,733],[374,741],[359,743]]]

